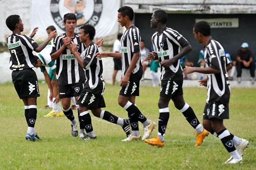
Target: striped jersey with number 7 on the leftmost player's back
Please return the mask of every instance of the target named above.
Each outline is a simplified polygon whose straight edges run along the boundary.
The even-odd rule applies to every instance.
[[[9,67],[11,70],[33,68],[36,59],[33,50],[38,44],[27,35],[11,34],[7,37],[7,45],[11,54]]]

